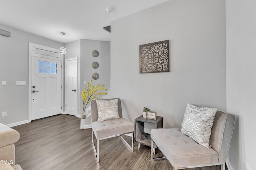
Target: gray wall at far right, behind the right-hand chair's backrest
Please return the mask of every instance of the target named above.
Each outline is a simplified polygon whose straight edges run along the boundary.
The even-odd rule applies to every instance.
[[[229,160],[256,170],[256,1],[226,0],[227,111],[236,114]]]

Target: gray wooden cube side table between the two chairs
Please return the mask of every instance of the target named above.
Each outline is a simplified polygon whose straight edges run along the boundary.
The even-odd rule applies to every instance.
[[[134,140],[139,143],[138,149],[140,149],[140,144],[151,146],[151,137],[150,134],[144,132],[144,123],[152,123],[154,124],[155,129],[163,128],[163,117],[156,116],[156,120],[146,119],[142,115],[137,117],[134,120]],[[154,154],[155,154],[156,145],[154,144]]]

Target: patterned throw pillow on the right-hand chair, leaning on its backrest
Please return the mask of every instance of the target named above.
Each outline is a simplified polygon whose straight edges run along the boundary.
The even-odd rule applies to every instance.
[[[209,148],[212,124],[217,109],[198,107],[187,104],[182,122],[182,133],[188,135],[194,141]]]

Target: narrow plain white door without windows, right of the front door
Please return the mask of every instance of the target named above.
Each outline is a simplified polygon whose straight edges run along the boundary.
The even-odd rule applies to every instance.
[[[65,60],[65,113],[78,114],[77,58]]]

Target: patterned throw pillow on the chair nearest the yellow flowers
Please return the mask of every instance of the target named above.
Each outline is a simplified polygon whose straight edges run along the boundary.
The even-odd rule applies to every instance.
[[[118,99],[96,100],[98,108],[98,121],[118,119]]]

